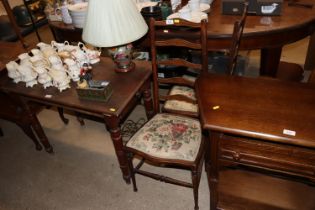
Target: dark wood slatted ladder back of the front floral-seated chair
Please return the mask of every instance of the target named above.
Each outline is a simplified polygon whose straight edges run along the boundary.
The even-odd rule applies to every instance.
[[[156,30],[159,28],[159,31]],[[161,31],[165,33],[180,33],[179,30],[183,28],[189,28],[194,30],[194,33],[200,33],[200,39],[191,40],[185,37],[180,38],[157,38],[156,33]],[[178,35],[180,36],[180,34]],[[207,72],[208,70],[208,52],[207,52],[207,22],[206,20],[202,20],[201,23],[192,23],[182,19],[173,20],[173,24],[168,24],[165,21],[155,21],[154,19],[150,20],[150,44],[151,44],[151,58],[152,58],[152,70],[154,81],[158,81],[157,83],[153,83],[154,92],[153,96],[159,98],[159,101],[154,102],[154,108],[156,112],[160,110],[160,102],[165,102],[167,100],[178,100],[185,101],[191,104],[197,104],[196,100],[193,100],[187,96],[175,94],[175,95],[159,95],[159,85],[160,84],[168,84],[168,85],[180,85],[187,87],[194,87],[194,82],[189,81],[183,77],[173,77],[173,78],[158,78],[158,66],[177,66],[177,67],[187,67],[197,70],[199,73]],[[165,59],[165,60],[157,60],[157,48],[163,47],[177,47],[177,48],[187,48],[190,50],[200,50],[201,51],[201,64],[192,63],[187,60],[181,58],[173,58],[173,59]],[[171,112],[180,115],[186,115],[191,117],[198,117],[198,113],[188,112],[188,111],[176,111],[176,110],[165,110],[166,112]]]

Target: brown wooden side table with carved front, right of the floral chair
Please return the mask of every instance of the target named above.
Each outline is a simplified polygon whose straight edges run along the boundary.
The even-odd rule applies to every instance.
[[[202,126],[209,131],[211,210],[218,207],[220,165],[315,182],[314,84],[205,74],[196,83],[196,93]]]

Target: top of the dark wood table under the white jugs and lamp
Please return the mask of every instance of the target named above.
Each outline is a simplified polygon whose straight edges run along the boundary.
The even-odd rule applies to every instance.
[[[124,107],[135,96],[139,88],[151,76],[151,64],[145,61],[135,61],[136,69],[128,73],[116,73],[115,64],[110,58],[101,58],[101,62],[93,65],[93,79],[110,81],[113,94],[108,102],[80,100],[76,92],[76,83],[71,83],[71,88],[62,92],[55,87],[44,89],[37,84],[32,88],[26,88],[25,83],[18,84],[7,77],[0,78],[0,89],[5,92],[16,93],[26,98],[43,102],[45,104],[58,105],[81,112],[95,113],[99,115],[120,115]],[[51,95],[51,98],[47,98]],[[114,109],[114,111],[113,111]]]

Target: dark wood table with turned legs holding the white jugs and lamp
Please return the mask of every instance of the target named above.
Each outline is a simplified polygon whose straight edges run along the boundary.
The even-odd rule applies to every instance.
[[[41,85],[26,88],[24,83],[15,84],[7,76],[2,76],[0,78],[0,90],[15,95],[24,102],[29,118],[34,124],[34,129],[48,151],[52,151],[52,147],[41,128],[36,113],[32,113],[32,109],[29,108],[29,102],[53,105],[103,118],[105,126],[110,132],[123,178],[129,182],[129,171],[123,151],[120,125],[141,98],[143,98],[147,117],[150,118],[153,115],[150,86],[151,64],[144,61],[136,61],[135,63],[136,69],[134,71],[121,74],[114,71],[114,63],[109,58],[101,58],[100,63],[93,65],[93,79],[108,80],[112,85],[113,94],[108,102],[80,100],[76,93],[75,83],[71,84],[70,89],[59,92],[55,87],[45,90]]]

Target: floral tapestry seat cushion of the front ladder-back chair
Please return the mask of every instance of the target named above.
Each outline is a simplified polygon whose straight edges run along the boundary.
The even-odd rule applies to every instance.
[[[157,114],[126,144],[151,157],[194,161],[202,139],[196,119],[171,114]]]

